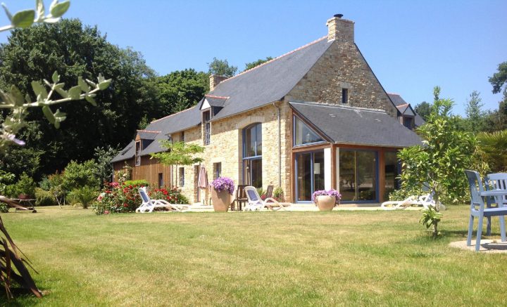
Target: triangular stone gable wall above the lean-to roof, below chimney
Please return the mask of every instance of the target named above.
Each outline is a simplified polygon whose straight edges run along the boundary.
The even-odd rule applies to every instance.
[[[341,105],[342,89],[349,89],[346,105],[385,110],[396,117],[396,107],[357,46],[346,42],[334,41],[285,99]]]

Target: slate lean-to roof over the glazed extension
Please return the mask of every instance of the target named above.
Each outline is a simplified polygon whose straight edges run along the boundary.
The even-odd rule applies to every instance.
[[[383,147],[422,144],[415,132],[382,110],[320,103],[289,104],[333,143]]]

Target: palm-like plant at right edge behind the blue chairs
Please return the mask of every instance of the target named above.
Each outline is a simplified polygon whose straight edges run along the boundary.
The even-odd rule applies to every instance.
[[[507,171],[507,130],[481,132],[477,142],[492,172]]]

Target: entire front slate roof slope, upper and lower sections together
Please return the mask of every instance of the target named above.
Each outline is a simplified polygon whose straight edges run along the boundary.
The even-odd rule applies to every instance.
[[[142,150],[141,155],[164,151],[158,141],[167,140],[167,135],[170,133],[201,124],[200,107],[204,99],[208,100],[212,107],[221,107],[220,112],[211,120],[235,115],[280,100],[296,86],[331,44],[332,41],[328,42],[326,36],[280,55],[220,82],[196,106],[151,122],[145,130],[161,132],[157,133],[155,138],[149,136],[149,139],[154,139],[154,141]],[[143,136],[147,136],[147,133]],[[134,145],[134,141],[130,142],[122,151],[125,153],[120,152],[111,162],[134,157]]]

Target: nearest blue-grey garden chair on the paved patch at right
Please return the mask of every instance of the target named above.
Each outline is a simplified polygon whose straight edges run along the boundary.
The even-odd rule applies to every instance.
[[[500,232],[502,242],[506,241],[506,228],[503,216],[507,215],[507,207],[487,208],[482,197],[499,197],[502,196],[498,190],[484,191],[481,178],[477,171],[465,170],[470,186],[470,222],[468,223],[467,246],[472,244],[473,220],[475,217],[479,219],[477,223],[477,240],[475,241],[475,252],[479,252],[480,240],[482,235],[482,222],[484,217],[499,216]],[[503,192],[505,193],[505,192]]]

